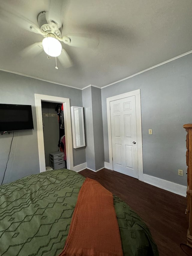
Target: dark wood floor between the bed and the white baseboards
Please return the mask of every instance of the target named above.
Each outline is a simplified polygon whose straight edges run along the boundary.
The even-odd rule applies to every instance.
[[[96,173],[88,169],[79,173],[100,182],[143,218],[158,245],[160,256],[187,255],[180,248],[180,243],[187,242],[185,197],[105,168]]]

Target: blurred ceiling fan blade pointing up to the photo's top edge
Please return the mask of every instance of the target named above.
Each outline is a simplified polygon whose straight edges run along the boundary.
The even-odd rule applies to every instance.
[[[59,29],[62,26],[63,16],[63,0],[49,0],[49,10],[46,12],[46,20],[49,25],[55,29]]]

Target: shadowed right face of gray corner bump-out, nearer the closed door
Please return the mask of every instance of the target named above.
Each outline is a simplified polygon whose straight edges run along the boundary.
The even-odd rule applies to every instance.
[[[104,141],[103,141],[101,89],[91,86],[91,95],[92,95],[92,111],[93,111],[95,170],[99,170],[104,167]]]

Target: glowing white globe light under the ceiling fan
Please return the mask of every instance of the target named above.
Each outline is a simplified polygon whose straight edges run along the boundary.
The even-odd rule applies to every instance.
[[[46,37],[42,41],[43,49],[49,56],[57,57],[61,54],[61,43],[53,37]]]

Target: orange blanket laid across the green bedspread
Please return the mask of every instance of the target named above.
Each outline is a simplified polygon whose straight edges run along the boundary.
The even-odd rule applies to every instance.
[[[86,178],[73,212],[69,234],[59,256],[123,256],[113,195]]]

